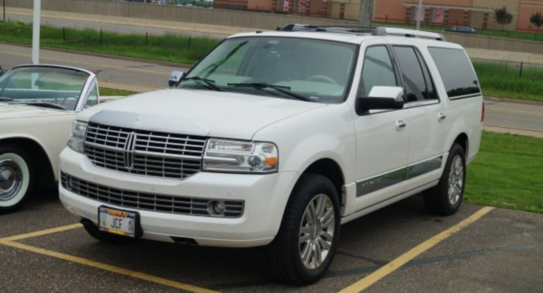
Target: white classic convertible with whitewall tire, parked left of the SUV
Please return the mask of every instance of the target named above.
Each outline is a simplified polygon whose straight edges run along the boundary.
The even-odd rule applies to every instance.
[[[23,65],[0,77],[0,213],[54,186],[77,112],[98,102],[96,74],[84,69]]]

